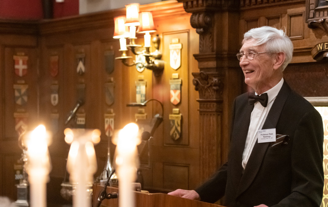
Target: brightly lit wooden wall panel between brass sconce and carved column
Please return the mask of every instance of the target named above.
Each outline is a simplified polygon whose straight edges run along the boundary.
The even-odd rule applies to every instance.
[[[160,50],[163,52],[162,59],[165,61],[165,68],[161,77],[153,77],[153,94],[164,104],[164,121],[160,125],[161,128],[156,130],[156,137],[152,142],[152,169],[148,171],[149,174],[145,173],[152,176],[152,182],[145,180],[145,184],[151,184],[146,187],[152,190],[171,191],[186,186],[192,189],[199,184],[200,167],[197,159],[199,156],[199,128],[197,126],[199,118],[198,104],[195,101],[198,95],[192,85],[193,77],[191,76],[191,72],[198,70],[197,62],[192,54],[199,49],[199,37],[195,29],[186,24],[190,21],[191,14],[184,12],[181,4],[179,9],[179,12],[166,16],[154,16],[157,33],[161,37]],[[169,44],[172,43],[172,37],[178,37],[179,42],[182,43],[181,67],[176,71],[170,67]],[[182,79],[182,98],[176,106],[170,102],[169,80],[172,78],[172,73],[179,73],[179,78]],[[182,114],[182,142],[179,140],[174,142],[169,136],[169,114],[172,114],[173,108],[179,108]],[[182,140],[181,138],[179,139]],[[177,142],[180,144],[176,144]],[[188,173],[182,171],[185,177],[181,178],[174,173],[174,167],[167,166],[188,166],[189,170]],[[164,169],[166,169],[165,172],[163,172]],[[188,180],[187,183],[185,183],[186,180]]]

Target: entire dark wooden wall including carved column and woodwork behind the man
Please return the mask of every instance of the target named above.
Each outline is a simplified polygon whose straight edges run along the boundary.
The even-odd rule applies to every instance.
[[[147,82],[146,100],[155,98],[164,105],[164,121],[151,142],[151,168],[142,169],[144,188],[151,192],[195,188],[227,160],[231,104],[237,95],[248,90],[236,52],[243,33],[250,28],[264,25],[285,28],[294,44],[292,63],[285,70],[286,81],[304,96],[326,96],[322,86],[327,85],[327,66],[313,60],[310,51],[316,44],[327,42],[328,36],[320,29],[307,27],[305,1],[179,2],[163,1],[140,8],[153,11],[156,33],[161,38],[165,68],[158,77],[147,69],[139,73],[134,66],[126,67],[118,60],[112,73],[105,71],[105,52],[120,56],[119,42],[112,38],[113,18],[123,15],[124,9],[38,22],[0,22],[1,195],[16,199],[13,165],[22,150],[17,144],[14,114],[28,116],[29,129],[44,123],[53,131],[48,198],[51,202],[64,203],[59,191],[69,145],[64,142],[63,130],[74,126],[72,122],[66,126],[64,123],[80,96],[79,86],[85,86],[85,104],[78,113],[85,114],[86,128],[102,131],[101,142],[95,146],[97,177],[106,161],[108,143],[112,156],[115,148],[105,136],[104,115],[113,111],[115,129],[134,121],[138,108],[126,104],[135,102],[135,81],[139,76]],[[181,67],[177,70],[169,65],[169,44],[174,38],[182,44]],[[137,43],[142,42],[143,36],[138,35]],[[13,72],[13,56],[22,53],[29,57],[28,73],[17,77]],[[76,72],[78,54],[85,57],[83,75]],[[58,56],[56,76],[50,73],[53,56]],[[177,105],[170,103],[169,81],[173,73],[178,73],[182,80],[181,102]],[[320,77],[320,84],[314,84],[316,77]],[[108,105],[105,84],[111,81],[115,85],[115,101]],[[16,84],[29,85],[25,106],[15,104],[13,85]],[[50,101],[52,85],[58,85],[59,102],[55,106]],[[313,86],[321,90],[306,91]],[[169,136],[169,114],[174,108],[182,114],[182,136],[176,141]],[[156,102],[150,102],[144,109],[148,118],[161,113]],[[141,161],[146,162],[146,158],[142,157]]]

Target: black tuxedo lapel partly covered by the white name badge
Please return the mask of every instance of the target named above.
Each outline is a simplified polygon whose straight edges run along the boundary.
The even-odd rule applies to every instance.
[[[275,102],[273,103],[268,116],[263,124],[262,129],[276,128],[282,108],[290,94],[290,87],[284,81]],[[250,158],[247,162],[246,168],[240,180],[240,185],[237,190],[237,196],[244,192],[253,182],[264,158],[265,152],[270,142],[255,143]]]

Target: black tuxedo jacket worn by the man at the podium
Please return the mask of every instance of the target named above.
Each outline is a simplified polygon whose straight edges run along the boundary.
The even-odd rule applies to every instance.
[[[276,128],[283,142],[257,143],[245,170],[242,154],[254,105],[247,93],[233,106],[228,162],[198,187],[202,201],[224,196],[229,207],[320,206],[323,193],[323,124],[318,111],[284,82],[262,129]]]

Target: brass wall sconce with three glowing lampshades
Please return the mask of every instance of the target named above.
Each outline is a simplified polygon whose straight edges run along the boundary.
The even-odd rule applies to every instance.
[[[155,32],[155,26],[153,21],[153,15],[150,11],[139,13],[139,4],[133,3],[126,5],[126,16],[118,16],[114,18],[115,29],[113,38],[120,39],[121,56],[116,57],[116,60],[121,60],[125,66],[134,66],[141,64],[142,67],[153,70],[155,76],[160,76],[164,69],[164,61],[161,60],[162,53],[158,50],[160,45],[160,38],[158,35],[153,38],[152,42],[155,47],[154,52],[150,52],[151,47],[151,32]],[[138,29],[136,29],[138,27]],[[141,45],[135,44],[135,33],[145,33],[144,49],[140,48]],[[129,45],[126,44],[126,39],[130,39]],[[134,55],[145,56],[146,62],[136,62],[133,60],[129,63],[128,59],[132,59],[132,56],[127,56],[127,48],[130,48]],[[137,51],[138,50],[138,51]]]

